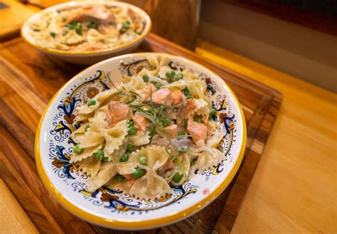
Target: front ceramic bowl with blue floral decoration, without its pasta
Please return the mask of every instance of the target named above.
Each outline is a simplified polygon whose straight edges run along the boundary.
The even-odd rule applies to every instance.
[[[102,186],[87,192],[87,175],[70,163],[76,129],[75,107],[97,92],[118,83],[123,75],[133,75],[149,66],[146,57],[155,53],[134,53],[110,58],[82,71],[68,81],[50,100],[36,133],[36,164],[50,193],[70,212],[91,223],[108,228],[141,230],[174,223],[207,206],[228,186],[240,166],[245,151],[246,126],[240,103],[230,87],[202,65],[169,55],[170,66],[188,68],[208,83],[207,95],[217,110],[218,131],[225,137],[218,149],[220,164],[205,171],[193,171],[190,180],[171,188],[171,194],[149,201],[123,191]]]

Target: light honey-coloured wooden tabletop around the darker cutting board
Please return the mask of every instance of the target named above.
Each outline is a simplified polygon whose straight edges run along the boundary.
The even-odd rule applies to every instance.
[[[337,233],[337,95],[205,41],[196,52],[284,95],[232,233]],[[0,191],[0,233],[36,233],[1,180]]]

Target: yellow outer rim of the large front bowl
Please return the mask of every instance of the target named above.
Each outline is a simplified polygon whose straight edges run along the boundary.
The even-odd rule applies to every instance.
[[[139,55],[139,54],[147,54],[147,55],[158,55],[163,53],[131,53],[128,55]],[[168,54],[169,55],[169,54]],[[114,58],[109,58],[108,60],[116,60],[119,57],[126,57],[127,55],[121,55]],[[183,58],[176,55],[169,55],[173,58]],[[185,58],[184,58],[185,59]],[[106,60],[105,60],[106,61]],[[105,61],[102,61],[100,63],[105,63]],[[188,60],[189,62],[196,63],[192,60]],[[169,225],[171,223],[175,223],[178,220],[182,220],[183,218],[187,218],[188,216],[193,215],[194,213],[200,211],[204,206],[208,205],[210,202],[212,202],[215,198],[217,198],[220,193],[222,193],[225,188],[230,184],[230,181],[234,178],[235,174],[237,173],[237,170],[240,167],[241,161],[243,159],[243,155],[245,154],[245,147],[247,142],[247,129],[246,129],[246,122],[245,122],[245,116],[242,112],[242,107],[240,105],[239,100],[237,100],[237,97],[235,96],[234,92],[232,92],[232,89],[224,82],[226,87],[228,87],[228,90],[232,94],[232,96],[235,98],[235,101],[237,102],[237,106],[240,110],[240,115],[242,119],[242,144],[240,148],[239,155],[237,156],[237,161],[235,162],[234,166],[232,167],[232,170],[228,174],[228,176],[223,180],[223,182],[218,186],[218,188],[215,188],[215,190],[208,194],[207,197],[203,198],[198,203],[194,204],[191,207],[186,208],[183,211],[179,211],[176,213],[172,213],[169,216],[163,217],[163,218],[156,218],[151,220],[129,220],[129,221],[120,221],[120,220],[113,220],[109,218],[102,218],[100,216],[95,216],[92,213],[87,213],[86,211],[83,211],[81,208],[75,206],[73,203],[68,201],[63,195],[58,191],[55,186],[51,183],[50,179],[48,178],[48,175],[46,174],[45,169],[43,168],[42,160],[41,160],[41,153],[40,153],[40,134],[41,134],[41,125],[43,123],[43,120],[46,116],[46,112],[49,110],[49,107],[55,97],[58,96],[61,90],[68,85],[68,83],[71,83],[73,80],[77,79],[82,73],[85,73],[88,69],[92,68],[93,66],[96,66],[99,63],[96,63],[95,65],[90,66],[89,68],[86,68],[85,70],[82,70],[82,72],[75,75],[73,78],[68,80],[67,83],[65,83],[58,92],[55,93],[55,95],[52,97],[52,99],[48,102],[48,105],[46,107],[46,110],[43,112],[43,115],[41,116],[40,122],[38,123],[38,128],[36,132],[36,139],[35,139],[35,159],[36,159],[36,166],[38,168],[38,174],[40,175],[43,184],[48,188],[48,191],[55,196],[55,198],[58,200],[59,203],[61,203],[68,211],[73,213],[75,216],[85,219],[90,223],[95,223],[97,225],[102,225],[108,228],[116,228],[116,229],[123,229],[123,230],[141,230],[141,229],[148,229],[148,228],[156,228],[163,225]],[[200,65],[200,67],[205,68],[205,66],[201,65],[200,63],[196,63],[197,65]],[[213,73],[213,71],[209,70],[208,68],[205,68],[208,70],[211,74],[216,75],[216,73]],[[219,75],[216,75],[219,77]]]

